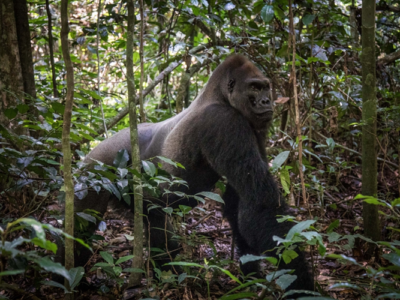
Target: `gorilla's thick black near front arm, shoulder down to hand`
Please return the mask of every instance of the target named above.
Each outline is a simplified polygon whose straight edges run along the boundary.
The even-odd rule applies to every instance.
[[[278,215],[288,214],[288,206],[280,197],[278,187],[269,172],[265,152],[260,144],[265,132],[255,131],[249,122],[232,107],[212,105],[207,107],[208,117],[200,140],[201,151],[212,168],[228,179],[225,215],[234,231],[240,254],[260,255],[277,246],[274,235],[284,237],[293,223],[278,223]],[[238,141],[240,141],[238,143]],[[313,290],[311,276],[303,252],[280,269],[294,269],[297,280],[290,289]],[[267,256],[276,256],[266,252]],[[257,265],[242,266],[246,273],[257,272]]]

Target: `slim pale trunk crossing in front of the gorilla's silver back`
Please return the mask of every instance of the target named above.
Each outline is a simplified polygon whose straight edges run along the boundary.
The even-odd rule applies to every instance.
[[[139,136],[137,129],[135,80],[133,72],[133,36],[135,32],[135,7],[133,0],[128,0],[128,33],[126,41],[126,75],[128,84],[129,102],[129,124],[132,147],[132,168],[141,171]],[[133,268],[143,269],[143,190],[140,184],[133,186],[134,190],[134,229],[133,235]],[[129,278],[130,286],[138,286],[141,283],[142,273],[131,273]]]

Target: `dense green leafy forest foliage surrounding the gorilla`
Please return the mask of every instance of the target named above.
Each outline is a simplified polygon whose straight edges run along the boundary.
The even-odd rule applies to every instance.
[[[298,223],[286,237],[276,237],[281,249],[278,260],[285,263],[296,259],[293,249],[307,245],[312,253],[317,249],[318,259],[338,260],[338,264],[343,263],[342,266],[351,264],[362,270],[362,275],[358,277],[339,277],[337,281],[340,282],[331,285],[331,290],[354,290],[364,299],[399,297],[396,288],[399,286],[400,219],[396,174],[399,160],[400,68],[398,58],[385,60],[400,50],[398,1],[377,1],[375,39],[379,107],[376,139],[380,159],[377,197],[354,197],[360,193],[360,143],[364,126],[361,119],[362,53],[358,38],[361,33],[361,1],[294,2],[294,25],[298,41],[295,60],[303,135],[302,167],[310,203],[306,209],[309,210],[308,214],[313,215],[313,220],[301,222],[296,218],[280,217],[282,221]],[[350,21],[353,2],[354,24]],[[104,121],[110,124],[110,120],[122,113],[127,105],[126,70],[123,63],[126,60],[126,3],[111,0],[103,5],[99,19],[99,45],[96,44],[97,5],[97,2],[70,3],[69,38],[76,78],[71,127],[76,197],[84,199],[88,188],[91,188],[98,192],[113,193],[129,204],[132,195],[129,187],[135,182],[142,184],[148,193],[155,196],[160,196],[159,186],[163,185],[167,187],[165,195],[192,197],[199,203],[204,202],[204,197],[221,202],[220,196],[209,192],[186,195],[170,188],[174,184],[186,183],[162,171],[161,165],[164,163],[183,168],[167,158],[157,157],[143,162],[142,174],[130,168],[124,151],[119,153],[112,166],[95,164],[87,170],[79,162],[99,141],[128,126],[128,118],[122,116],[108,130],[108,134],[102,133]],[[147,121],[159,122],[175,114],[175,100],[184,73],[189,72],[191,76],[186,90],[187,106],[201,93],[210,73],[222,59],[232,52],[249,56],[271,79],[273,91],[278,97],[275,107],[277,117],[271,126],[268,145],[271,146],[271,153],[268,153],[271,171],[277,176],[285,198],[291,205],[299,206],[301,186],[297,162],[298,140],[289,113],[293,107],[288,90],[292,60],[288,41],[288,1],[145,1],[144,5],[144,87],[149,88],[145,97]],[[58,232],[58,229],[26,218],[35,216],[41,220],[39,216],[47,215],[47,204],[55,200],[62,202],[64,199],[60,145],[63,101],[66,95],[65,64],[59,47],[60,3],[50,1],[49,7],[53,21],[58,96],[53,94],[51,80],[46,2],[30,1],[28,8],[36,97],[21,97],[15,106],[3,105],[1,110],[0,218],[5,225],[2,225],[0,258],[5,259],[7,264],[0,270],[0,281],[8,282],[11,278],[17,278],[17,274],[31,274],[31,271],[41,271],[44,278],[46,271],[70,278],[71,288],[74,289],[82,276],[82,270],[66,273],[61,266],[53,265],[43,253],[54,253],[56,250],[56,245],[44,233]],[[135,26],[138,29],[139,22]],[[352,33],[353,29],[356,37]],[[187,55],[198,46],[203,46],[202,50]],[[100,66],[97,65],[98,57]],[[137,52],[133,55],[133,61],[135,65],[139,64]],[[160,84],[152,87],[153,80],[174,63],[177,66],[172,73],[163,75]],[[200,67],[191,73],[196,64]],[[97,86],[98,67],[100,86]],[[135,67],[134,72],[135,85],[138,87],[139,68]],[[3,87],[1,89],[1,93],[10,93]],[[104,109],[104,120],[101,106]],[[288,121],[285,121],[285,115],[289,115]],[[29,129],[29,134],[13,132],[10,125],[13,123]],[[220,187],[223,185],[218,186],[223,191]],[[361,263],[352,257],[352,251],[358,250],[358,241],[367,240],[362,236],[363,223],[357,208],[362,199],[378,205],[381,221],[386,225],[384,241],[377,243],[383,253],[382,259],[375,261],[375,265],[370,261]],[[177,217],[183,224],[181,227],[187,224],[192,213],[183,205],[176,209],[171,205],[151,207],[156,208]],[[299,215],[304,214],[302,209],[298,212]],[[61,221],[60,212],[50,213],[51,218]],[[349,215],[351,217],[348,219],[354,221],[351,230],[342,226],[342,218]],[[83,232],[90,223],[100,221],[94,211],[79,213],[76,219],[77,227]],[[104,227],[104,224],[101,223],[101,226]],[[326,228],[326,233],[322,228]],[[190,234],[181,233],[180,239],[189,245],[198,245],[204,243],[206,238],[193,230]],[[212,242],[209,244],[211,248],[214,247]],[[288,272],[270,274],[275,277],[267,276],[262,281],[236,276],[236,273],[226,270],[229,262],[220,260],[214,249],[213,257],[201,260],[204,264],[198,264],[197,261],[181,262],[180,266],[185,272],[180,275],[166,274],[155,268],[155,277],[161,283],[187,288],[189,280],[196,282],[193,284],[195,286],[201,278],[209,287],[213,277],[225,274],[237,286],[228,292],[224,291],[223,299],[258,297],[255,295],[260,290],[280,293],[282,296],[282,291],[291,280],[292,275]],[[123,262],[111,259],[109,255],[103,254],[105,262],[100,264],[104,265],[97,267],[102,268],[109,278],[118,279],[119,274],[127,268],[123,269]],[[242,259],[266,260],[265,257]],[[274,259],[269,260],[274,263]],[[200,270],[200,274],[194,270]],[[57,286],[51,281],[45,281],[45,284]],[[58,287],[64,289],[63,286]],[[325,296],[314,299],[326,299]]]

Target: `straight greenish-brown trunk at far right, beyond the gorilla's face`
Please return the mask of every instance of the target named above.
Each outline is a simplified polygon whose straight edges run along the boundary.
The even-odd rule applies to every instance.
[[[362,194],[377,195],[375,0],[362,2]],[[378,207],[363,203],[364,233],[381,238]],[[369,251],[368,251],[369,252]]]

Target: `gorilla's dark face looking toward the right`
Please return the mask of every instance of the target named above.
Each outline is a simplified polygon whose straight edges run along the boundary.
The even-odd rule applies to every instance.
[[[265,77],[247,78],[236,82],[230,103],[237,108],[256,129],[265,128],[273,117],[270,83]]]

